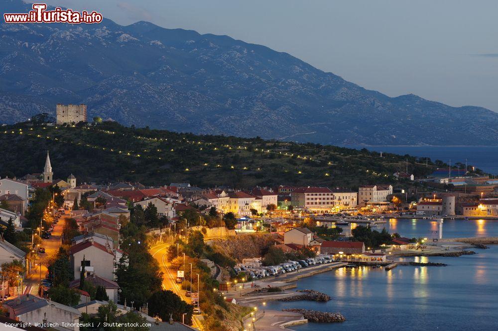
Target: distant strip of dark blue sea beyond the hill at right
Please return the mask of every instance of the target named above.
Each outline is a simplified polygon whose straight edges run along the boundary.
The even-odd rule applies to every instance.
[[[441,160],[472,164],[485,172],[498,175],[498,146],[345,146],[367,148],[377,152],[429,157],[432,161]]]

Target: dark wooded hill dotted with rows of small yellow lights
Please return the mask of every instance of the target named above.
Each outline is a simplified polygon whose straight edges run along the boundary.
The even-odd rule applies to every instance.
[[[198,136],[124,127],[116,122],[78,126],[0,129],[0,176],[40,173],[50,151],[55,178],[73,173],[80,182],[139,181],[148,185],[190,182],[199,186],[327,185],[356,187],[394,183],[405,156],[260,138]],[[409,169],[434,169],[408,157]]]

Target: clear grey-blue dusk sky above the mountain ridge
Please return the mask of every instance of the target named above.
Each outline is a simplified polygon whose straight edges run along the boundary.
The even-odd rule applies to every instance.
[[[30,1],[32,2],[32,0]],[[498,111],[497,0],[47,0],[225,34],[390,97]]]

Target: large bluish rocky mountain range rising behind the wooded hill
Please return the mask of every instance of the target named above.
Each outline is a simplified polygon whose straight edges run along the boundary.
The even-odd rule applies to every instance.
[[[5,0],[3,9],[27,5]],[[85,103],[90,118],[197,134],[336,145],[498,139],[491,110],[390,98],[229,36],[143,21],[69,25],[0,24],[0,122]]]

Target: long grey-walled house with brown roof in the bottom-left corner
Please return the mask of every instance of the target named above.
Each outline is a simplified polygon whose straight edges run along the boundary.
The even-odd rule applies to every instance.
[[[23,294],[4,301],[2,307],[7,311],[8,317],[13,320],[31,323],[32,325],[41,323],[58,324],[57,330],[80,330],[78,323],[81,313],[75,308],[49,299],[32,294]]]

